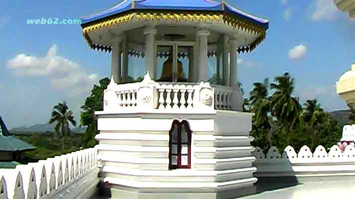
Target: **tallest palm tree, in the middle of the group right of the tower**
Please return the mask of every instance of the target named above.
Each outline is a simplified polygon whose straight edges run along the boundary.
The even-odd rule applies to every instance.
[[[303,127],[302,105],[299,99],[292,96],[295,90],[295,80],[289,73],[275,78],[275,82],[270,85],[275,90],[271,97],[271,114],[282,124],[287,133],[287,144],[290,144],[291,130]]]

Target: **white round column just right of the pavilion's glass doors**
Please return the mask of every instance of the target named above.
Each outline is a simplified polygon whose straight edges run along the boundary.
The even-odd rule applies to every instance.
[[[207,37],[209,36],[209,31],[202,29],[197,31],[198,36],[198,74],[197,81],[208,81],[207,75],[207,65],[208,65],[208,57],[207,57]]]

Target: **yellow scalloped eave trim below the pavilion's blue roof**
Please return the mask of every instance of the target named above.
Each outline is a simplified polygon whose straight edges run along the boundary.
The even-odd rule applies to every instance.
[[[175,20],[179,21],[203,21],[203,22],[215,22],[219,23],[221,20],[231,27],[239,28],[243,31],[247,31],[253,34],[259,35],[259,37],[249,46],[241,47],[238,52],[250,52],[259,45],[266,36],[266,30],[263,27],[258,26],[255,23],[241,19],[237,16],[221,13],[221,12],[198,12],[198,11],[136,11],[126,12],[120,15],[112,16],[97,22],[83,25],[83,35],[91,48],[101,48],[92,44],[88,33],[97,31],[99,29],[108,28],[113,25],[119,26],[122,23],[127,23],[133,19],[136,20]],[[101,49],[103,50],[103,49]]]

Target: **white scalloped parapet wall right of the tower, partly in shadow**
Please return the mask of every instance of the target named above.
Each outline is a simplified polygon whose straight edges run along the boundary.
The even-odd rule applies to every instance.
[[[256,147],[252,155],[257,168],[255,176],[259,177],[296,177],[322,178],[330,176],[355,176],[355,147],[349,145],[342,152],[334,145],[330,151],[318,146],[314,152],[303,146],[298,153],[293,147],[287,146],[282,154],[276,147],[271,147],[265,155],[261,148]]]

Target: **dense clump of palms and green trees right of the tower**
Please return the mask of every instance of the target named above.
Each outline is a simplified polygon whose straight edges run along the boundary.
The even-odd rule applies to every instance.
[[[296,150],[307,145],[314,150],[318,145],[330,148],[341,139],[338,121],[317,100],[306,100],[302,107],[292,95],[295,80],[289,73],[276,77],[269,85],[268,79],[256,82],[249,95],[250,110],[254,113],[251,131],[254,146],[265,153],[271,145],[280,150],[287,145]],[[271,96],[269,88],[273,91]]]

